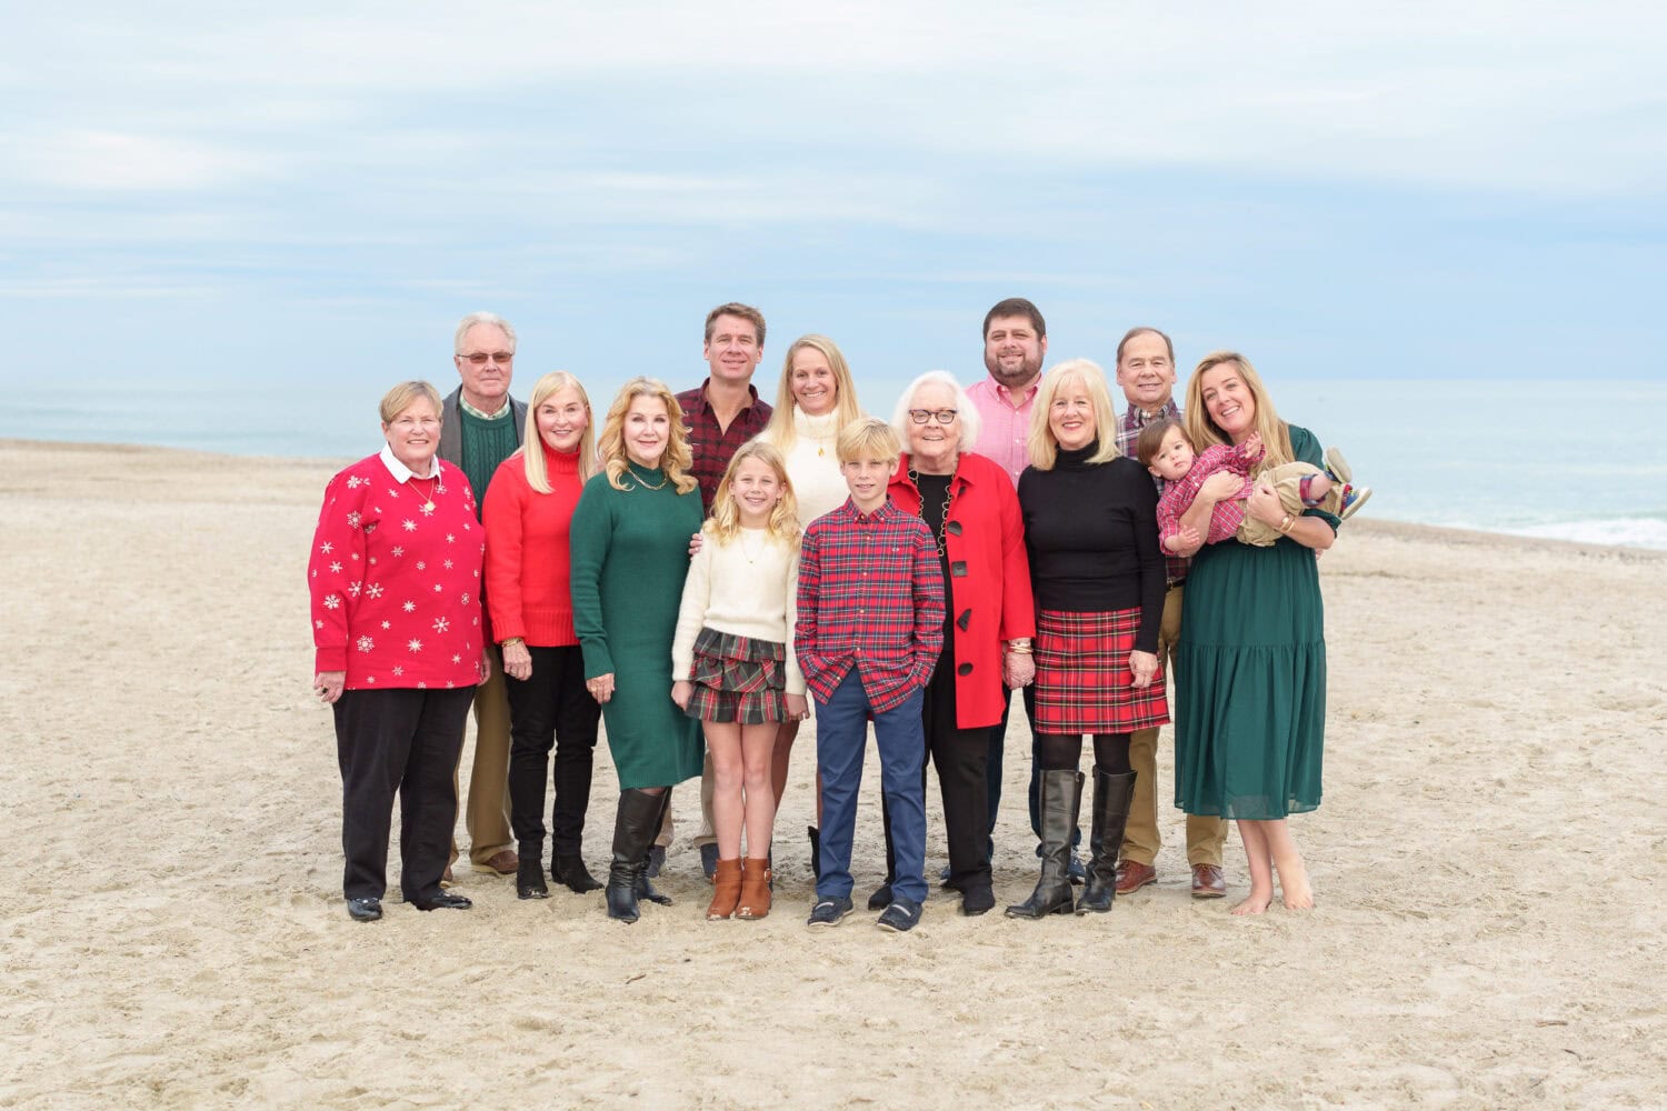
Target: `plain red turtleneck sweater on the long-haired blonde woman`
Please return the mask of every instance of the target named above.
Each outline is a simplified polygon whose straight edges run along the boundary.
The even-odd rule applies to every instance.
[[[578,643],[567,526],[583,483],[577,451],[552,451],[542,438],[537,450],[543,451],[550,493],[527,485],[520,451],[498,465],[487,488],[487,608],[498,643],[522,636],[533,648],[558,648]]]

